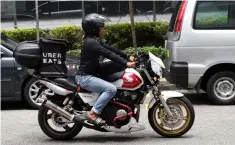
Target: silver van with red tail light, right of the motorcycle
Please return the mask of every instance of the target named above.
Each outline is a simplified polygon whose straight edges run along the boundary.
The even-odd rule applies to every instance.
[[[235,102],[235,2],[178,1],[169,24],[167,80]]]

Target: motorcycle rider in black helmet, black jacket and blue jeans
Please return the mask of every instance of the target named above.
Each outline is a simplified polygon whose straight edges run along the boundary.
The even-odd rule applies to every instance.
[[[117,92],[113,84],[97,76],[100,68],[100,57],[108,58],[126,67],[135,66],[135,58],[133,56],[128,56],[101,40],[107,20],[106,17],[96,13],[88,14],[83,18],[82,29],[84,31],[84,38],[80,66],[76,76],[76,82],[81,88],[100,93],[93,108],[85,115],[86,119],[96,125],[105,124],[105,120],[102,120],[99,115]]]

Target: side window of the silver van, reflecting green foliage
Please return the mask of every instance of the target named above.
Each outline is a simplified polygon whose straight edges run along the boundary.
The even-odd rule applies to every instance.
[[[235,2],[197,2],[194,29],[235,29]]]

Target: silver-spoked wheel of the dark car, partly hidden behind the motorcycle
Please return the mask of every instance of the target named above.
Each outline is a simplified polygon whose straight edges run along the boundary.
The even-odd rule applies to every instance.
[[[33,109],[39,109],[41,103],[36,102],[36,96],[39,91],[39,80],[36,78],[31,78],[26,85],[24,86],[24,98],[25,101]],[[50,93],[53,93],[50,89],[46,90]]]

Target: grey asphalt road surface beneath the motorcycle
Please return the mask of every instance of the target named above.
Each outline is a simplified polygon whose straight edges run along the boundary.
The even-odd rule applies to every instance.
[[[214,106],[205,95],[188,94],[195,107],[195,123],[183,137],[169,139],[150,127],[147,110],[141,111],[146,130],[120,135],[83,129],[71,141],[55,141],[39,128],[37,111],[22,103],[2,103],[2,145],[233,145],[235,142],[235,106]]]

